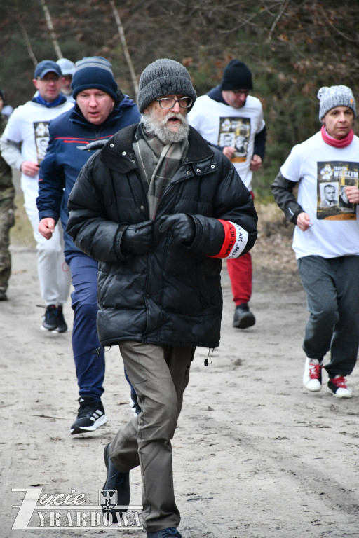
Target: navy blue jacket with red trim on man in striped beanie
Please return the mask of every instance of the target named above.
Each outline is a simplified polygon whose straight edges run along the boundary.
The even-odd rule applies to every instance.
[[[74,108],[51,120],[48,126],[50,138],[46,156],[41,162],[39,172],[39,196],[36,199],[39,219],[50,217],[61,220],[66,230],[69,212],[67,200],[69,193],[83,165],[96,149],[81,147],[97,140],[108,139],[118,130],[138,123],[140,113],[137,105],[127,95],[115,104],[107,120],[101,125],[88,122],[75,104]],[[64,232],[65,256],[79,249],[72,237]]]

